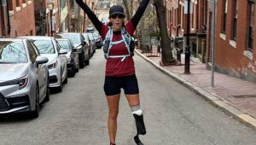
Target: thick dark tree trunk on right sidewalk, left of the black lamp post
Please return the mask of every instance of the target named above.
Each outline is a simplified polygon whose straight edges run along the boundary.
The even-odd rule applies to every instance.
[[[160,27],[160,44],[162,47],[161,63],[162,65],[172,65],[176,63],[176,60],[172,56],[171,40],[166,28],[166,8],[162,0],[154,0],[154,6]]]

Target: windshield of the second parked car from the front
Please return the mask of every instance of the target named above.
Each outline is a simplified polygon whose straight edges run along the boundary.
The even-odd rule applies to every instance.
[[[55,54],[55,48],[51,40],[34,40],[40,54]]]

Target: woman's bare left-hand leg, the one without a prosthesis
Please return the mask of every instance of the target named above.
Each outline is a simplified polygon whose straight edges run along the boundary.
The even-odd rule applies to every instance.
[[[117,131],[117,117],[119,113],[120,94],[107,96],[108,100],[108,135],[110,142],[115,143]]]

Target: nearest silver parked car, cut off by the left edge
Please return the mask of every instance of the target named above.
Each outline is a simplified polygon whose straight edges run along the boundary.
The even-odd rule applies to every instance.
[[[38,117],[39,104],[49,101],[48,61],[30,40],[0,38],[0,114]]]

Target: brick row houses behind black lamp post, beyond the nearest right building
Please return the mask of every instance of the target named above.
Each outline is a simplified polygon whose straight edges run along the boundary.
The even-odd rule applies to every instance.
[[[190,48],[191,55],[206,62],[207,29],[209,11],[207,0],[191,0],[193,14],[190,14]],[[166,0],[166,22],[170,38],[174,38],[179,49],[183,49],[183,35],[186,32],[186,18],[184,14],[184,0]]]

